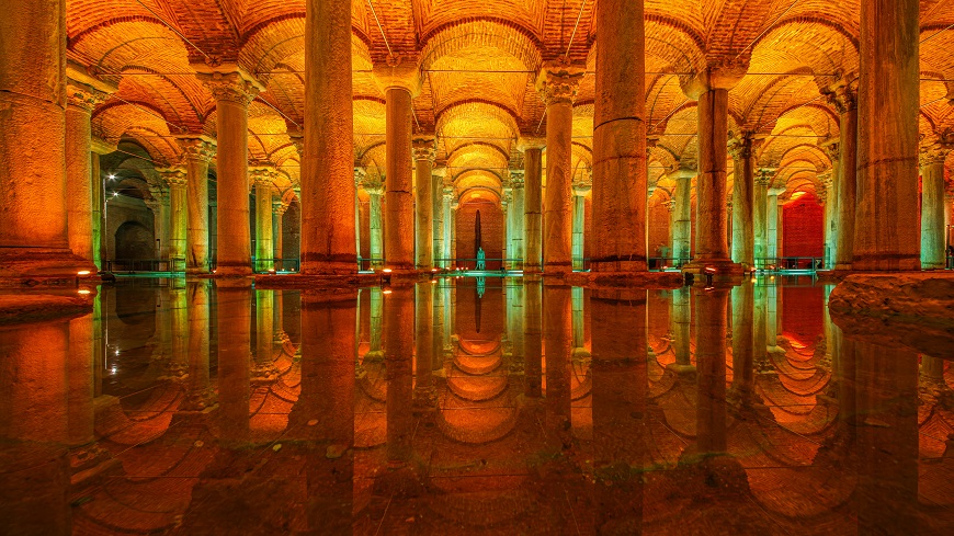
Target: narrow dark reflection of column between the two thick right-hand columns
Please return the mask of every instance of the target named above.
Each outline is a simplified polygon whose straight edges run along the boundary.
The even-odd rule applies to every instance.
[[[728,288],[695,289],[696,445],[726,451],[726,305]]]

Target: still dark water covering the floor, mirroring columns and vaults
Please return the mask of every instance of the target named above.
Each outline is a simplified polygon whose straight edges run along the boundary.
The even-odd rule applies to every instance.
[[[952,534],[954,366],[830,290],[121,281],[0,330],[0,526]]]

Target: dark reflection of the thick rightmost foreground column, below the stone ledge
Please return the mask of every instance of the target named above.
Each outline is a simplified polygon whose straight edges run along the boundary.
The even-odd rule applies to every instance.
[[[918,534],[918,356],[854,346],[861,532]]]

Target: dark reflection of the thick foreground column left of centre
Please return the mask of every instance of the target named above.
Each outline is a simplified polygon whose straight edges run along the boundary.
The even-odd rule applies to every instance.
[[[305,456],[308,526],[351,531],[354,479],[354,349],[357,292],[302,292],[302,394],[288,436],[325,445]]]

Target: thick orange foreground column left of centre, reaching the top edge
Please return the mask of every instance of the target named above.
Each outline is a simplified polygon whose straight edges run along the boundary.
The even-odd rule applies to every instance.
[[[354,116],[351,2],[305,3],[305,148],[302,157],[303,274],[353,274]],[[390,146],[390,145],[389,145]],[[388,149],[390,150],[390,149]],[[408,148],[410,157],[410,148]],[[410,162],[407,166],[410,171]]]

